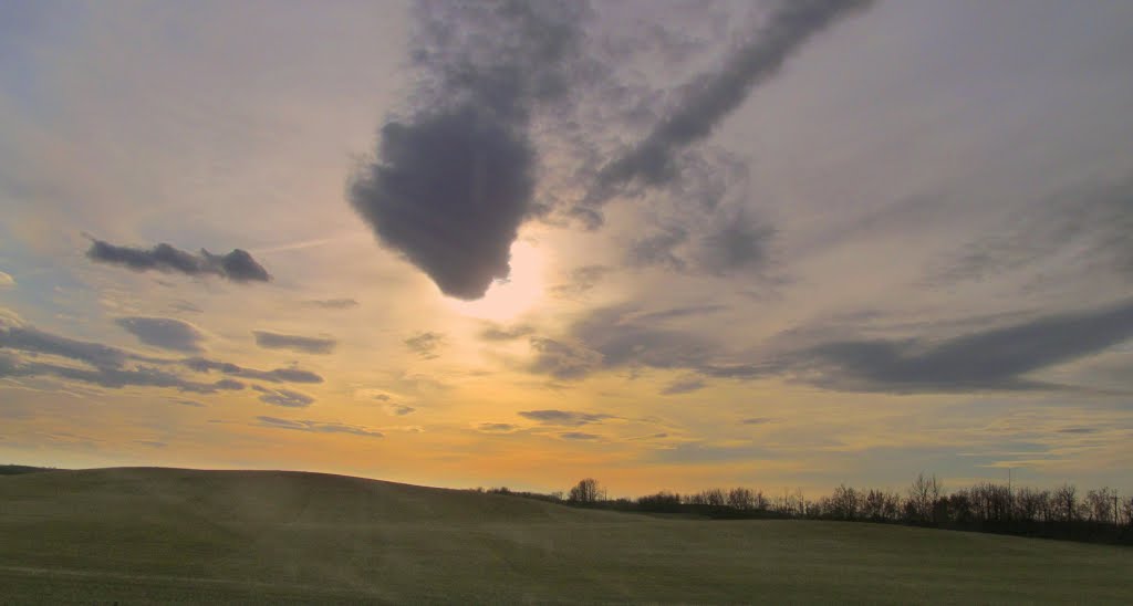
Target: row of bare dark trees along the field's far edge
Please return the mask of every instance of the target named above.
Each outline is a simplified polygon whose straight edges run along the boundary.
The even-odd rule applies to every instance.
[[[818,498],[807,498],[801,489],[772,495],[746,487],[608,498],[596,479],[585,478],[565,493],[488,492],[644,513],[901,523],[1133,545],[1133,496],[1121,497],[1109,487],[1081,492],[1071,484],[1038,489],[985,481],[949,492],[935,475],[919,473],[904,492],[843,484]]]

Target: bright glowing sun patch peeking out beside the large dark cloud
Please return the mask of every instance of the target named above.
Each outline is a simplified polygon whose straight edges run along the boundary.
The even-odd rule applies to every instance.
[[[511,245],[511,273],[506,280],[493,282],[487,293],[475,301],[446,300],[462,316],[495,322],[514,319],[543,298],[545,262],[543,251],[535,244],[516,240]]]

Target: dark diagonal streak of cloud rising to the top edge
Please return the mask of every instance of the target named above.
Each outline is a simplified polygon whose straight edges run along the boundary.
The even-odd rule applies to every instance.
[[[868,0],[785,0],[776,5],[752,37],[729,56],[718,70],[702,74],[683,88],[683,99],[637,146],[598,173],[591,204],[608,199],[632,181],[656,186],[676,177],[674,155],[708,137],[716,126],[811,36]]]

